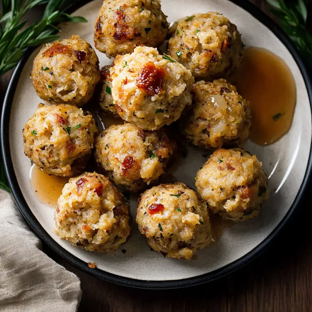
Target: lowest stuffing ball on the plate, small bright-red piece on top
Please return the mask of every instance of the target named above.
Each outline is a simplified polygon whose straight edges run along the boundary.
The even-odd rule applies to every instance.
[[[136,222],[149,246],[170,258],[189,260],[212,239],[206,203],[181,182],[141,194]]]

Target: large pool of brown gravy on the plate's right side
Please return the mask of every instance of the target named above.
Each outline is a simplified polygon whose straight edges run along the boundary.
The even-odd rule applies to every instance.
[[[229,80],[250,102],[251,141],[269,145],[288,132],[295,110],[296,85],[280,57],[263,48],[248,47],[241,67]]]

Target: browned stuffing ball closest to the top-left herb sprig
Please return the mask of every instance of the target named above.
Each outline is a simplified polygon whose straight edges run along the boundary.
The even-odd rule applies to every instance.
[[[84,105],[100,79],[99,60],[79,36],[46,44],[34,59],[32,84],[51,104]]]

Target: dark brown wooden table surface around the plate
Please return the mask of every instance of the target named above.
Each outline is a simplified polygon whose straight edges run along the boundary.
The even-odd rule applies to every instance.
[[[251,2],[272,17],[264,0]],[[11,74],[0,78],[0,100]],[[139,290],[114,285],[79,271],[49,247],[43,249],[79,276],[81,312],[308,312],[312,311],[312,210],[308,196],[267,251],[238,271],[200,286]]]

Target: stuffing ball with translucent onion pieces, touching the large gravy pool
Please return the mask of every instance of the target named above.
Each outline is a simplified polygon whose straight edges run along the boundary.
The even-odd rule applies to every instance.
[[[249,136],[250,107],[224,79],[199,81],[193,86],[193,114],[183,130],[194,145],[207,149],[241,146]]]

